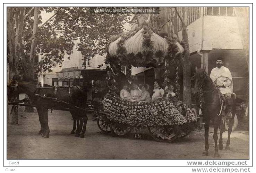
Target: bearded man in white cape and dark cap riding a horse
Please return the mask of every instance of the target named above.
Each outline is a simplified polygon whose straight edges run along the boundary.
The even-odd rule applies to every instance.
[[[220,89],[220,92],[224,95],[226,99],[226,104],[228,107],[227,118],[232,118],[233,110],[233,80],[232,75],[227,67],[223,66],[223,59],[218,58],[216,60],[216,67],[212,69],[210,78],[213,83]]]

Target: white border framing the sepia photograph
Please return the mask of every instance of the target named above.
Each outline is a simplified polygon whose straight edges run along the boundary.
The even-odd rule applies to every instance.
[[[34,2],[34,1],[33,1]],[[63,2],[63,1],[61,1]],[[148,1],[147,1],[148,2]],[[222,2],[222,1],[216,1],[216,2]],[[250,7],[250,93],[252,93],[253,91],[253,85],[252,85],[252,81],[253,81],[253,78],[252,78],[252,74],[253,74],[253,63],[252,63],[252,50],[253,50],[253,47],[252,47],[252,41],[253,41],[253,30],[252,30],[252,18],[253,18],[253,15],[252,15],[252,4],[193,4],[193,3],[187,3],[187,4],[3,4],[3,23],[5,23],[4,25],[4,30],[3,30],[3,42],[5,43],[6,42],[6,7],[7,6],[128,6],[128,7],[131,7],[131,6],[155,6],[155,7],[158,7],[158,6],[249,6]],[[3,44],[3,50],[4,50],[4,56],[3,57],[6,57],[6,44]],[[3,100],[6,100],[6,59],[4,59],[4,64],[3,64],[3,71],[4,71],[4,74],[3,74],[3,91],[5,94],[3,94]],[[1,86],[2,87],[2,86]],[[253,103],[253,96],[255,96],[255,94],[250,94],[250,103]],[[3,146],[3,156],[4,156],[4,165],[5,166],[9,166],[8,162],[10,160],[6,160],[6,102],[4,101],[3,102],[3,117],[4,117],[4,122],[3,122],[3,129],[4,129],[4,140],[5,140],[5,144]],[[253,106],[250,106],[250,113],[253,112]],[[250,117],[253,117],[252,114]],[[251,118],[252,119],[252,118]],[[253,121],[250,121],[250,132],[252,132],[252,127],[253,127]],[[255,131],[255,129],[254,129]],[[253,158],[253,153],[252,153],[252,150],[253,150],[253,145],[252,145],[252,140],[253,140],[253,136],[252,136],[252,133],[249,134],[250,136],[250,160],[247,160],[249,165],[252,165],[252,158]],[[2,143],[1,143],[2,145]],[[198,154],[201,154],[201,153],[198,153]],[[14,161],[14,160],[12,160]],[[17,160],[19,161],[20,163],[20,166],[67,166],[67,165],[72,165],[72,166],[183,166],[183,167],[179,167],[178,170],[183,170],[183,171],[191,171],[191,167],[184,167],[187,165],[187,161],[192,161],[192,160]],[[194,161],[205,161],[205,160],[194,160]],[[221,160],[221,161],[233,161],[233,160]],[[236,160],[234,160],[236,161]],[[239,161],[242,161],[242,160],[239,160]],[[14,167],[13,167],[14,168]],[[163,167],[164,168],[164,167]],[[10,167],[9,167],[10,169]],[[16,170],[19,170],[19,171],[23,171],[25,172],[25,170],[28,171],[28,169],[35,169],[37,170],[37,172],[45,172],[46,171],[46,167],[40,167],[37,168],[37,167],[16,167]],[[58,167],[51,167],[50,168],[52,171],[53,170],[59,170]],[[82,168],[84,170],[86,170],[87,168]],[[161,168],[162,169],[162,168]],[[150,168],[150,172],[158,172],[159,170],[161,170],[159,168],[155,169],[154,167]],[[173,169],[172,167],[165,167],[164,169],[166,170],[171,170]],[[65,172],[69,172],[69,171],[74,171],[74,168],[73,167],[65,167],[64,168]],[[92,168],[92,170],[94,170],[94,168]],[[143,169],[138,169],[139,170],[143,170]],[[26,172],[27,172],[26,171]],[[104,172],[104,167],[101,167],[101,168],[95,168],[95,171],[96,172],[100,172],[100,171],[103,171]],[[130,168],[125,168],[125,169],[122,169],[122,172],[128,172],[130,171]]]

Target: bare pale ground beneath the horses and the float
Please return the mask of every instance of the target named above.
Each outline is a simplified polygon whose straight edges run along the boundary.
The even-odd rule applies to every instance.
[[[19,112],[19,124],[7,126],[7,158],[66,158],[66,159],[211,159],[214,141],[210,133],[209,156],[202,156],[204,133],[194,131],[175,143],[160,143],[150,138],[136,139],[133,134],[116,137],[104,134],[88,115],[85,138],[70,134],[72,117],[69,112],[53,110],[49,112],[50,138],[37,135],[40,129],[37,113]],[[249,158],[248,131],[231,134],[230,150],[220,151],[221,158]],[[227,140],[224,133],[223,142]]]

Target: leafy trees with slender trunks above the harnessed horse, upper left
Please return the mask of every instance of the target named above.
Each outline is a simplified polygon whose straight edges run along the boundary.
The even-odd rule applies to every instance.
[[[54,17],[44,24],[43,10],[47,13],[55,12]],[[109,37],[121,33],[129,17],[126,13],[96,13],[92,7],[39,8],[38,15],[35,54],[43,55],[40,67],[44,72],[51,71],[56,63],[61,66],[65,54],[72,54],[75,41],[78,42],[75,49],[81,51],[85,59],[96,54],[103,55]],[[32,76],[34,71],[31,69],[34,66],[38,70],[37,64],[34,65],[34,61],[25,56],[31,52],[33,19],[34,9],[31,7],[7,9],[10,79],[20,73]],[[56,31],[61,31],[61,34]]]

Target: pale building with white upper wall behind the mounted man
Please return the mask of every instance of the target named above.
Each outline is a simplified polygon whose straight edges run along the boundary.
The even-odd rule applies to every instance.
[[[176,8],[182,16],[181,7]],[[137,19],[136,19],[137,18]],[[147,20],[148,15],[140,14],[132,20],[139,23]],[[152,15],[152,26],[168,34],[177,33],[182,40],[181,20],[174,8],[160,7],[158,15]],[[189,39],[192,74],[194,69],[206,67],[207,73],[216,66],[216,58],[224,59],[224,66],[229,68],[233,77],[234,93],[246,100],[249,82],[248,69],[239,32],[239,23],[235,7],[187,7],[185,22]],[[137,23],[131,23],[131,28]],[[249,27],[249,26],[248,26]],[[249,39],[249,38],[248,38]],[[141,74],[145,68],[133,68],[132,74]]]

